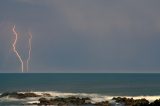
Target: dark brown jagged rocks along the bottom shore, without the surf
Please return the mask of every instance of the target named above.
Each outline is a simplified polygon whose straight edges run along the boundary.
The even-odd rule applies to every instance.
[[[110,101],[104,100],[101,102],[92,103],[89,97],[52,97],[48,93],[43,93],[42,95],[26,92],[5,92],[0,95],[0,98],[16,98],[16,99],[26,99],[26,98],[38,98],[38,102],[24,103],[22,105],[37,105],[37,106],[160,106],[160,99],[153,102],[149,102],[145,98],[133,99],[126,97],[113,97],[112,103]]]

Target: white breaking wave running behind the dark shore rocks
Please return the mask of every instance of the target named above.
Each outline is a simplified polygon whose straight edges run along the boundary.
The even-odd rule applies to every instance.
[[[21,93],[26,93],[26,92],[21,92]],[[89,97],[91,99],[92,103],[97,103],[97,102],[102,102],[102,101],[112,101],[113,97],[126,97],[126,98],[133,98],[133,99],[147,99],[149,102],[153,102],[156,99],[160,98],[160,95],[154,95],[154,96],[110,96],[110,95],[101,95],[101,94],[95,94],[95,93],[65,93],[65,92],[58,92],[58,91],[31,91],[30,93],[35,93],[37,95],[44,95],[44,94],[50,94],[52,98],[56,97],[63,97],[67,98],[70,96],[75,96],[75,97]]]

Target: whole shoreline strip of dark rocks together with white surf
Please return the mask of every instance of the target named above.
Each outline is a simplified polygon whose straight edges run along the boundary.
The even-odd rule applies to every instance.
[[[63,93],[55,91],[46,92],[4,92],[0,94],[0,103],[20,101],[23,105],[55,105],[67,104],[79,106],[127,106],[145,102],[150,106],[155,101],[160,103],[160,95],[156,96],[107,96],[89,93]],[[70,106],[69,105],[69,106]],[[159,104],[160,105],[160,104]],[[132,106],[132,105],[131,105]],[[134,105],[133,105],[134,106]],[[141,105],[138,105],[141,106]],[[146,105],[142,105],[146,106]],[[154,106],[154,105],[151,105]]]

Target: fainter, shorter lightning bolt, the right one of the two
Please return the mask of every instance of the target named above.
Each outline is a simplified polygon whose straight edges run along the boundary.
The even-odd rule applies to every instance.
[[[29,34],[29,51],[28,51],[28,59],[27,59],[27,71],[29,70],[29,61],[31,59],[31,51],[32,51],[32,34],[31,32]]]

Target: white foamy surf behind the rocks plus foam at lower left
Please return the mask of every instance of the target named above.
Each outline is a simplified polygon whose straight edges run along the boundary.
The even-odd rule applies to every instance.
[[[109,102],[114,102],[112,100],[113,97],[126,97],[126,98],[133,98],[133,99],[142,99],[145,98],[147,99],[149,102],[153,102],[156,99],[160,98],[160,95],[155,95],[155,96],[110,96],[110,95],[101,95],[101,94],[95,94],[95,93],[65,93],[65,92],[58,92],[58,91],[30,91],[30,92],[18,92],[18,93],[35,93],[37,95],[41,95],[41,97],[45,97],[45,98],[56,98],[56,97],[63,97],[63,98],[67,98],[67,97],[71,97],[71,96],[75,96],[75,97],[79,97],[79,98],[83,98],[83,97],[89,97],[91,99],[91,103],[97,103],[97,102],[103,102],[103,101],[109,101]],[[49,94],[51,95],[51,97],[46,97],[44,96],[44,94]],[[26,98],[26,99],[15,99],[15,98],[9,98],[9,97],[5,97],[5,98],[0,98],[0,101],[26,101],[27,103],[38,103],[38,99],[40,97],[32,97],[32,98]]]

